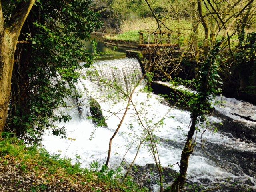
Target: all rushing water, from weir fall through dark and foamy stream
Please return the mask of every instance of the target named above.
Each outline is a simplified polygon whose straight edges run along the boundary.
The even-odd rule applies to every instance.
[[[112,88],[122,86],[122,91],[129,92],[142,76],[140,64],[135,59],[102,61],[94,66],[99,71],[97,79],[92,75],[86,76],[88,70],[84,70],[82,73],[86,77],[81,78],[76,85],[83,94],[80,99],[82,116],[76,108],[62,109],[72,116],[70,122],[59,125],[66,127],[67,139],[60,139],[48,133],[43,136],[42,141],[51,153],[70,157],[74,161],[76,154],[80,155],[79,161],[84,167],[88,167],[93,161],[102,164],[106,161],[109,139],[126,108],[127,99],[113,100],[109,97],[114,93]],[[111,88],[108,89],[109,85],[106,81]],[[104,89],[101,88],[100,82],[104,83]],[[167,167],[180,161],[190,124],[189,112],[166,105],[162,97],[144,92],[143,88],[143,83],[136,88],[132,97],[134,106],[129,106],[124,123],[113,140],[111,167],[120,166],[123,161],[126,164],[131,163],[140,140],[145,138],[144,128],[138,121],[135,108],[144,125],[151,128],[159,139],[157,147],[162,166]],[[90,116],[88,96],[92,96],[100,103],[108,128],[96,128],[91,120],[87,119]],[[256,106],[224,96],[217,96],[216,100],[220,102],[214,106],[216,109],[214,114],[207,116],[210,122],[208,130],[201,137],[206,125],[201,126],[201,132],[197,136],[198,145],[190,156],[188,182],[206,186],[225,186],[219,191],[232,192],[236,188],[247,191],[247,187],[256,191],[256,122],[234,115],[237,113],[256,119]],[[218,128],[217,132],[214,131],[216,128]],[[148,183],[142,181],[142,184],[147,184],[152,190],[157,191],[156,174],[152,175],[146,171],[153,163],[154,159],[145,142],[140,148],[135,164],[142,170],[140,174],[144,174],[144,178],[152,180]],[[179,167],[176,164],[172,167],[174,171],[167,169],[165,172],[168,170],[178,172]],[[172,176],[166,176],[165,182],[171,183],[172,180]]]

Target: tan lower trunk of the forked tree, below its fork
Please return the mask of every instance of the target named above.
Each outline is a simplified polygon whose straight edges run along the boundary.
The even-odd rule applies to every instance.
[[[10,100],[15,46],[8,32],[0,34],[0,133],[4,130]]]

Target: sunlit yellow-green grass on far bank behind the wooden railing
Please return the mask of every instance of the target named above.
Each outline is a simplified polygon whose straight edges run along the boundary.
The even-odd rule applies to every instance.
[[[186,46],[190,42],[190,35],[191,35],[191,20],[188,19],[167,19],[162,20],[164,23],[161,24],[162,31],[169,31],[172,30],[171,36],[171,43],[173,44],[180,44],[181,46]],[[158,28],[158,24],[154,18],[140,18],[135,19],[132,21],[125,20],[121,24],[121,34],[116,36],[106,35],[106,40],[118,40],[120,42],[130,42],[134,44],[138,44],[139,42],[139,31],[143,30],[150,30],[154,31]],[[224,31],[221,31],[218,36],[217,40],[222,39]],[[230,32],[231,33],[231,32]],[[153,36],[150,36],[153,39]],[[198,42],[199,47],[203,46],[203,39],[204,39],[204,28],[202,25],[198,26]],[[238,40],[237,35],[233,36],[231,39],[233,42]],[[150,42],[152,42],[151,40]],[[145,42],[147,42],[147,38],[145,38]]]

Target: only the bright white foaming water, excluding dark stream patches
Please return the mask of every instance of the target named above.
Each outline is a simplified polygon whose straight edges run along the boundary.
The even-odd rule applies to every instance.
[[[102,67],[102,65],[105,64],[108,65],[106,71],[104,70],[104,67]],[[125,86],[126,90],[131,90],[132,88],[130,74],[134,73],[134,71],[140,72],[136,74],[134,82],[142,75],[138,61],[131,59],[99,62],[96,64],[96,68],[100,68],[102,70],[100,75],[104,78],[112,81],[117,80],[118,85]],[[113,72],[115,68],[118,69],[118,72]],[[84,74],[85,73],[86,71]],[[115,78],[112,77],[113,74]],[[126,77],[128,77],[128,79],[124,80]],[[111,98],[109,99],[108,95],[113,90],[110,89],[111,91],[109,92],[107,89],[99,88],[98,84],[98,81],[96,81],[96,83],[92,83],[90,80],[80,79],[76,85],[78,90],[84,94],[81,101],[85,99],[84,102],[82,102],[82,117],[79,116],[76,108],[61,109],[66,110],[66,113],[71,114],[72,116],[72,120],[70,122],[66,124],[59,124],[59,126],[66,127],[67,139],[60,139],[59,137],[48,133],[43,136],[42,141],[45,148],[52,154],[61,154],[61,156],[72,158],[74,161],[76,161],[75,155],[80,155],[81,159],[79,161],[82,162],[82,166],[84,167],[88,167],[90,162],[93,161],[98,161],[102,164],[106,161],[109,139],[116,130],[118,123],[120,122],[118,118],[122,118],[127,104],[127,100],[116,102]],[[136,106],[136,110],[140,112],[140,117],[147,120],[148,127],[154,130],[154,134],[156,134],[158,138],[174,142],[179,146],[174,147],[169,145],[168,142],[160,142],[158,144],[158,152],[162,166],[176,164],[180,161],[180,154],[185,140],[184,134],[187,133],[190,123],[190,114],[186,111],[161,104],[163,99],[160,96],[143,92],[141,90],[143,87],[144,85],[141,84],[136,88],[132,101]],[[103,114],[107,118],[106,123],[108,128],[95,128],[92,122],[86,118],[86,116],[90,115],[90,111],[88,110],[88,101],[86,100],[88,96],[92,96],[100,103]],[[246,114],[242,113],[244,111],[243,105],[245,102],[224,97],[222,97],[222,100],[225,100],[225,102],[222,103],[222,106],[216,106],[216,110],[218,110],[218,112],[238,120],[241,119],[237,116],[232,116],[232,112],[234,112],[234,110],[236,110],[238,114]],[[249,106],[249,104],[246,105],[246,107]],[[255,110],[255,107],[256,106],[250,106],[250,109],[252,110],[251,113]],[[164,124],[157,124],[161,118],[164,118]],[[216,117],[208,116],[208,119],[211,122],[222,122],[221,119]],[[145,123],[145,121],[143,122]],[[93,135],[92,132],[94,132]],[[144,134],[144,129],[138,122],[138,116],[136,115],[134,107],[130,106],[124,123],[113,140],[110,166],[119,166],[125,154],[125,162],[132,162],[137,152],[139,140],[144,138]],[[92,139],[90,140],[90,138]],[[200,136],[198,137],[198,141],[199,138]],[[233,148],[235,150],[256,151],[256,145],[253,143],[244,142],[221,133],[214,133],[211,130],[206,131],[203,139],[207,140],[209,143]],[[147,145],[144,145],[140,149],[135,164],[144,166],[148,163],[154,163],[154,160],[150,152],[148,152]],[[236,167],[236,165],[233,166]],[[173,169],[176,171],[179,170],[177,165],[174,166]],[[220,168],[213,160],[211,160],[211,158],[205,155],[202,156],[202,154],[199,154],[198,152],[194,152],[190,157],[188,179],[190,181],[200,183],[203,178],[207,178],[209,182],[212,183],[224,182],[227,178],[242,181],[250,178],[251,182],[254,183],[254,185],[256,184],[256,178],[247,176],[239,168],[237,168],[236,172],[233,172],[228,168]]]

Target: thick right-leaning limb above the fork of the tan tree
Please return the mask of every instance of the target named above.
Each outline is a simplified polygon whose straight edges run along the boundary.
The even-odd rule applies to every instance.
[[[8,27],[12,32],[20,33],[20,30],[36,0],[21,1],[13,10]]]

